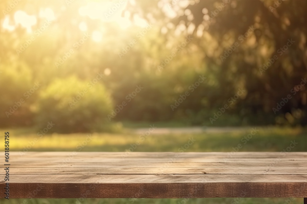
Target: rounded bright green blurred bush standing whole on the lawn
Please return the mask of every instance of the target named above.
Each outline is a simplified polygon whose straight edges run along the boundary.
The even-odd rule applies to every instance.
[[[47,128],[58,133],[108,131],[111,111],[111,97],[101,83],[76,77],[57,79],[39,96],[37,125],[43,129],[52,122],[52,128]]]

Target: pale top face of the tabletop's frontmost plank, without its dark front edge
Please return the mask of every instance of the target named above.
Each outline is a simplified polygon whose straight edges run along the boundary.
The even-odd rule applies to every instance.
[[[10,183],[244,183],[244,182],[295,182],[306,183],[307,175],[15,175]],[[4,183],[3,180],[0,180]],[[307,184],[306,184],[307,185]],[[307,187],[307,186],[306,186]],[[305,189],[307,191],[307,189]]]

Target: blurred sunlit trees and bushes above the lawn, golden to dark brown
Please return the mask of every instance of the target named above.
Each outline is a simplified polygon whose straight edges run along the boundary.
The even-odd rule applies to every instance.
[[[128,28],[104,19],[107,6],[99,7],[100,17],[80,15],[80,8],[97,1],[68,4],[27,0],[1,15],[0,86],[5,88],[0,90],[0,125],[41,127],[41,118],[43,123],[49,119],[63,122],[66,114],[63,112],[67,112],[67,118],[72,120],[74,115],[77,121],[65,119],[67,123],[53,131],[88,131],[91,129],[88,123],[96,126],[94,131],[122,102],[127,105],[111,121],[177,120],[186,125],[210,126],[306,125],[307,90],[298,86],[307,70],[306,2],[282,1],[276,8],[271,0],[173,1],[173,6],[159,0],[133,2],[128,1],[116,11],[126,20],[130,18],[132,24]],[[0,3],[2,13],[9,5],[10,0]],[[49,16],[42,17],[40,13],[46,8],[52,9],[53,14],[49,10]],[[30,26],[32,32],[17,23],[18,10],[36,17],[36,24]],[[41,31],[46,19],[52,19],[51,23]],[[136,19],[146,20],[151,26],[139,26]],[[86,24],[86,30],[79,29],[81,23]],[[8,29],[7,24],[14,29]],[[146,28],[146,33],[140,35]],[[37,29],[41,31],[38,36]],[[98,41],[95,32],[101,34]],[[91,37],[76,46],[86,33]],[[35,40],[18,53],[17,49],[33,36]],[[192,37],[191,42],[178,49],[186,36]],[[291,39],[294,43],[279,55],[280,48]],[[133,40],[136,43],[127,54],[119,56]],[[221,59],[235,43],[239,46],[229,57]],[[60,66],[56,65],[71,49],[73,54]],[[158,66],[172,52],[176,56],[159,70]],[[274,55],[278,60],[261,72],[263,64]],[[88,94],[80,100],[79,108],[71,109],[66,104],[63,110],[58,106],[64,100],[72,101],[83,88],[89,89],[87,84],[98,73],[105,76],[91,89],[97,100]],[[206,79],[192,92],[189,87],[200,75]],[[70,80],[72,76],[74,81]],[[25,92],[36,82],[41,86],[26,98]],[[143,87],[142,91],[128,102],[126,97],[137,86]],[[209,118],[225,104],[229,105],[228,99],[238,89],[245,90],[244,94],[212,124]],[[170,106],[186,91],[190,95],[173,111]],[[292,98],[275,114],[273,108],[288,94]],[[48,103],[44,101],[46,95]],[[56,101],[60,95],[65,95],[65,99]],[[99,100],[109,96],[110,99],[97,106]],[[6,112],[22,98],[25,102],[21,107],[7,116]]]

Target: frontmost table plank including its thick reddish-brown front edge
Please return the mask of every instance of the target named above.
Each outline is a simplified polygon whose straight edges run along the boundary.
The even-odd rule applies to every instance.
[[[0,183],[0,193],[4,191]],[[307,175],[14,175],[10,198],[307,197]],[[86,195],[86,196],[84,196]]]

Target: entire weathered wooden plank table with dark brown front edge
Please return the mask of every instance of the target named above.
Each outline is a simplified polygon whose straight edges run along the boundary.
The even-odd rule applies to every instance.
[[[307,152],[10,152],[9,167],[10,198],[307,197]]]

